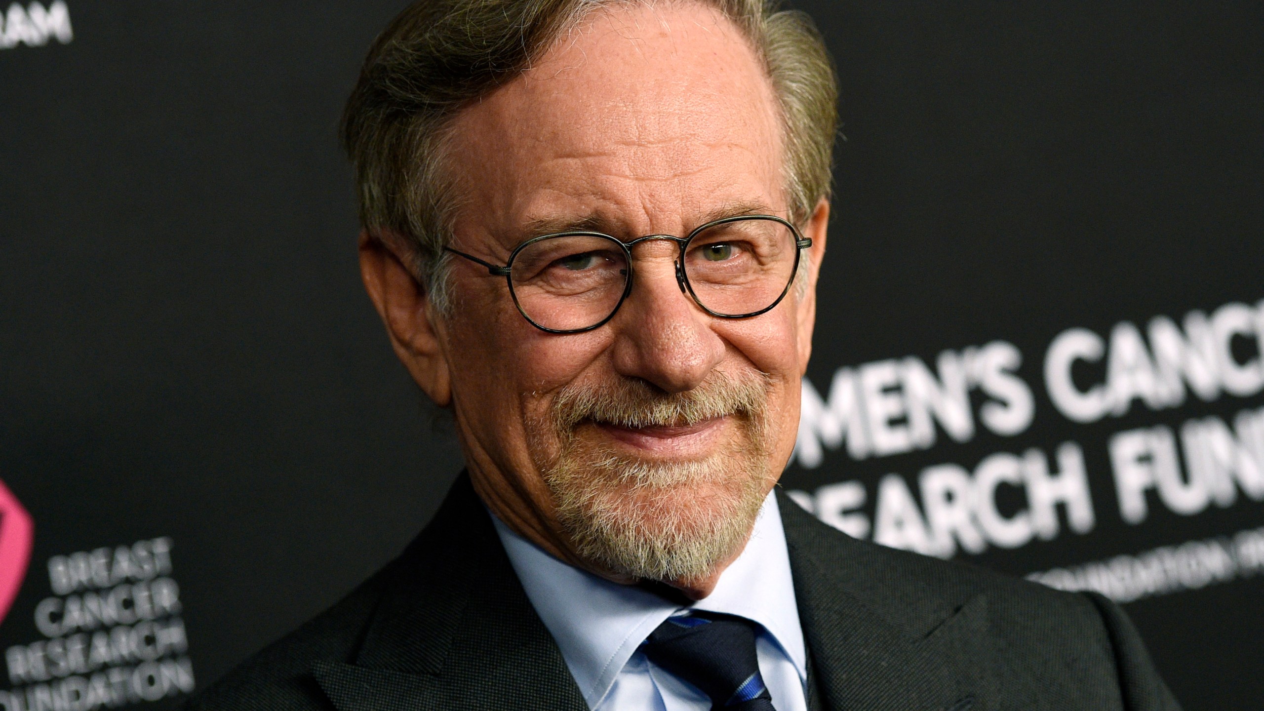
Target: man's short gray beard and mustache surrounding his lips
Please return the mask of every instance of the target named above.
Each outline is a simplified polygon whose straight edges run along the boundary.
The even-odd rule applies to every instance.
[[[765,386],[720,377],[675,395],[636,381],[560,393],[554,426],[562,448],[541,469],[574,552],[612,573],[660,582],[705,578],[737,554],[769,479]],[[702,461],[643,461],[573,435],[584,419],[667,425],[720,415],[738,417],[746,436]]]

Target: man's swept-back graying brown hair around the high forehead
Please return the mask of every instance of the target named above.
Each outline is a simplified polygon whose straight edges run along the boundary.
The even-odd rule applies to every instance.
[[[440,312],[450,310],[444,247],[458,197],[445,180],[453,118],[511,81],[588,13],[651,0],[421,0],[373,43],[343,113],[360,224],[406,240],[407,264]],[[829,196],[838,89],[808,15],[776,0],[691,0],[733,22],[758,53],[785,134],[790,221]]]

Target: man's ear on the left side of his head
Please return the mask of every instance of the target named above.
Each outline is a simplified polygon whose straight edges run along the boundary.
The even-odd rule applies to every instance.
[[[396,356],[440,407],[453,399],[442,321],[406,266],[408,245],[393,233],[360,233],[360,277],[382,316]]]

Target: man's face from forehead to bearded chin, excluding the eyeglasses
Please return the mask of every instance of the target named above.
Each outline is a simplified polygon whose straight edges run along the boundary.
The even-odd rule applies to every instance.
[[[498,264],[541,225],[629,240],[787,216],[770,82],[737,28],[693,4],[595,13],[464,110],[453,135],[453,247]],[[817,242],[813,283],[827,213],[801,225]],[[635,247],[631,295],[588,333],[533,328],[504,278],[465,259],[451,315],[431,316],[441,356],[426,367],[450,385],[427,391],[450,392],[479,495],[520,534],[616,579],[727,564],[798,428],[813,291],[718,319],[681,292],[678,253]]]

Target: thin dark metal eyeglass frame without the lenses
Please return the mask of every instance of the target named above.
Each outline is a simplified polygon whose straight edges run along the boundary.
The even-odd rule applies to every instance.
[[[712,311],[710,309],[708,309],[707,305],[703,304],[700,299],[698,299],[698,295],[694,294],[694,287],[693,287],[691,283],[689,283],[689,276],[685,273],[685,250],[689,248],[689,243],[694,239],[694,237],[696,237],[702,232],[708,230],[710,228],[714,228],[717,225],[723,225],[723,224],[728,224],[728,223],[737,223],[737,221],[743,221],[743,220],[772,220],[775,223],[780,223],[780,224],[785,225],[786,228],[789,228],[790,229],[790,234],[793,234],[794,239],[795,239],[795,242],[794,242],[795,243],[794,267],[791,267],[791,269],[790,269],[790,278],[786,280],[785,288],[781,290],[781,294],[776,297],[776,300],[772,304],[765,306],[763,309],[760,309],[758,311],[751,311],[750,314],[737,314],[737,315],[734,315],[734,314],[719,314],[717,311]],[[602,319],[600,321],[598,321],[598,323],[595,323],[595,324],[593,324],[590,326],[584,326],[581,329],[551,329],[551,328],[547,328],[547,326],[542,326],[542,325],[537,324],[536,321],[533,321],[531,319],[531,316],[527,315],[527,312],[522,309],[522,304],[518,302],[518,295],[513,291],[513,276],[512,276],[512,272],[513,272],[513,261],[518,257],[518,253],[521,253],[523,249],[526,249],[527,247],[531,247],[532,244],[535,244],[537,242],[542,242],[545,239],[554,239],[554,238],[559,238],[559,237],[600,237],[600,238],[608,239],[608,240],[618,244],[621,248],[623,248],[623,256],[627,258],[627,264],[628,264],[627,283],[623,287],[623,294],[619,296],[618,304],[614,305],[614,309],[611,309],[611,312],[604,319]],[[645,237],[638,237],[638,238],[636,238],[636,239],[633,239],[631,242],[623,242],[622,239],[619,239],[617,237],[612,237],[609,234],[604,234],[604,233],[599,233],[599,232],[583,232],[583,230],[580,230],[580,232],[559,232],[559,233],[552,233],[552,234],[542,234],[540,237],[533,237],[533,238],[523,242],[522,244],[514,247],[513,252],[509,253],[509,262],[507,264],[504,264],[503,267],[499,266],[499,264],[493,264],[490,262],[484,262],[483,259],[479,259],[478,257],[475,257],[473,254],[466,254],[465,252],[460,252],[458,249],[453,249],[451,247],[444,247],[444,250],[445,252],[451,252],[453,254],[456,254],[458,257],[464,257],[464,258],[466,258],[466,259],[469,259],[471,262],[477,262],[479,264],[483,264],[484,267],[487,267],[488,273],[492,275],[492,276],[503,276],[506,283],[509,287],[509,296],[513,299],[513,305],[518,309],[518,312],[522,314],[522,318],[526,319],[528,324],[531,324],[531,325],[536,326],[537,329],[540,329],[542,331],[546,331],[546,333],[568,334],[568,333],[585,333],[585,331],[590,331],[590,330],[594,330],[594,329],[599,329],[599,328],[604,326],[611,319],[613,319],[614,314],[619,312],[619,307],[623,306],[623,301],[626,301],[627,297],[628,297],[628,295],[632,294],[632,281],[633,281],[633,277],[635,277],[635,269],[632,267],[632,248],[636,247],[637,244],[641,244],[642,242],[650,242],[650,240],[655,240],[655,239],[666,239],[666,240],[671,240],[671,242],[676,243],[676,245],[680,248],[680,254],[676,257],[676,285],[680,286],[680,292],[681,294],[688,294],[690,296],[690,299],[694,300],[694,304],[696,304],[703,311],[707,311],[708,314],[710,314],[712,316],[715,316],[718,319],[750,319],[752,316],[758,316],[760,314],[765,314],[767,311],[771,311],[774,307],[776,307],[777,304],[781,304],[781,300],[785,299],[786,294],[790,292],[790,286],[794,283],[795,276],[798,276],[798,273],[799,273],[799,261],[800,261],[800,258],[803,256],[803,250],[806,249],[806,248],[809,248],[809,247],[811,247],[811,238],[804,238],[801,234],[799,234],[799,229],[798,228],[795,228],[789,221],[782,220],[781,218],[777,218],[776,215],[737,215],[737,216],[732,216],[732,218],[723,218],[723,219],[719,219],[719,220],[712,220],[712,221],[709,221],[709,223],[707,223],[704,225],[694,228],[694,230],[690,232],[689,235],[685,237],[685,238],[679,238],[679,237],[674,237],[674,235],[670,235],[670,234],[647,234]]]

